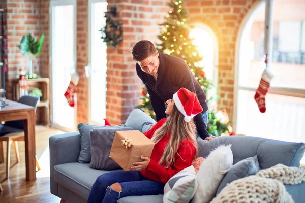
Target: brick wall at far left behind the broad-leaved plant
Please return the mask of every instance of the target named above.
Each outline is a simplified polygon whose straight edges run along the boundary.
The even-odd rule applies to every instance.
[[[16,78],[20,67],[28,67],[28,58],[20,53],[18,45],[22,36],[31,32],[35,38],[40,37],[39,5],[40,0],[6,0],[8,30],[8,73],[6,97],[12,99],[12,80]],[[39,72],[39,57],[33,61],[33,71]]]

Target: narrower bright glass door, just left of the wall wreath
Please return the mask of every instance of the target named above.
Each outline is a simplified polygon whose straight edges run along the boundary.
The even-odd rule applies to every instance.
[[[89,1],[88,116],[89,123],[93,125],[104,125],[106,118],[107,46],[101,39],[102,34],[99,31],[106,24],[104,16],[106,11],[105,0]]]

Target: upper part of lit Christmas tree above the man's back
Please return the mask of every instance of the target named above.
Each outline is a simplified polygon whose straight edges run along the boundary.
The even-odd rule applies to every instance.
[[[205,72],[199,65],[202,56],[198,53],[197,47],[193,45],[193,39],[189,37],[193,27],[187,21],[187,10],[182,8],[181,0],[171,1],[169,7],[170,11],[166,15],[165,22],[161,24],[162,28],[158,36],[161,43],[157,45],[157,49],[160,52],[184,59],[203,91],[208,92],[212,88],[212,84],[206,79]]]

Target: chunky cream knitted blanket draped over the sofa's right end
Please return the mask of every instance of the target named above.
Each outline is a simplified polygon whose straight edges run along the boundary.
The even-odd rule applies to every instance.
[[[260,170],[255,176],[238,179],[228,184],[211,202],[277,202],[293,203],[283,184],[305,181],[305,170],[277,164]]]

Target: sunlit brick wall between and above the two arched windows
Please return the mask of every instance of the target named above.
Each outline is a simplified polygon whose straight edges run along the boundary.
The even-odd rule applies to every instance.
[[[185,0],[191,22],[209,26],[218,40],[219,108],[233,116],[235,45],[240,24],[258,0]]]

